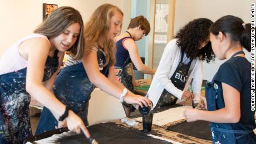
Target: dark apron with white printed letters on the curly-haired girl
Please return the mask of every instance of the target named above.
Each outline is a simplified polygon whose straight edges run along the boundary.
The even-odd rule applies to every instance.
[[[181,54],[181,59],[178,64],[178,67],[176,68],[173,76],[171,76],[170,80],[173,83],[173,85],[178,88],[179,90],[183,91],[186,81],[188,79],[188,72],[191,65],[192,59],[188,64],[183,63],[183,57],[184,53]],[[174,105],[176,101],[178,100],[177,97],[169,93],[164,89],[162,92],[159,101],[156,104],[156,108],[168,106],[168,105]]]

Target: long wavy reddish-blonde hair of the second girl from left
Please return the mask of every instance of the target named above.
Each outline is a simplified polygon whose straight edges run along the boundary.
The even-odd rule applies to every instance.
[[[89,21],[85,24],[85,55],[92,51],[95,47],[95,43],[99,41],[100,36],[104,36],[104,52],[106,54],[106,63],[115,64],[115,53],[116,47],[114,41],[109,38],[110,31],[110,19],[114,16],[115,11],[120,12],[122,16],[121,9],[112,4],[102,4],[99,6],[90,17]]]

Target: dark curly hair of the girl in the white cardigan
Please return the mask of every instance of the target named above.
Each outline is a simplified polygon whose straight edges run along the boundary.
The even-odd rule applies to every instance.
[[[211,48],[211,43],[208,42],[204,48],[199,49],[202,43],[209,39],[209,28],[213,22],[208,18],[198,18],[190,21],[174,38],[178,38],[177,45],[181,48],[181,52],[186,53],[190,59],[199,57],[200,60],[209,63],[214,61],[216,57]]]

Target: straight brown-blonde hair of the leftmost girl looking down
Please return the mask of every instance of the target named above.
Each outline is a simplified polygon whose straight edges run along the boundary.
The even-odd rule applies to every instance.
[[[34,32],[43,34],[47,38],[54,38],[63,33],[73,23],[80,24],[80,34],[73,46],[67,50],[67,53],[72,54],[75,60],[81,59],[83,56],[83,47],[85,46],[83,20],[80,12],[75,8],[60,7],[55,9],[49,17],[44,19]]]

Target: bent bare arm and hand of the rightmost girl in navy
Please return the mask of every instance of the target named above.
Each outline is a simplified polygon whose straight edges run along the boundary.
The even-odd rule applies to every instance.
[[[240,93],[234,87],[222,83],[225,107],[216,111],[186,110],[188,121],[204,120],[218,123],[237,123],[240,120]]]

